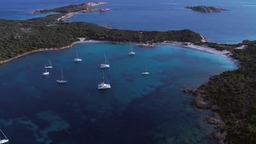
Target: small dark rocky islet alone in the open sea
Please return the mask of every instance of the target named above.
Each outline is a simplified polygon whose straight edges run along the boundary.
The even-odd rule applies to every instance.
[[[192,9],[194,11],[199,11],[201,13],[222,13],[222,11],[226,11],[227,9],[220,9],[217,7],[206,7],[203,5],[199,5],[199,6],[188,6],[185,7],[186,9]]]

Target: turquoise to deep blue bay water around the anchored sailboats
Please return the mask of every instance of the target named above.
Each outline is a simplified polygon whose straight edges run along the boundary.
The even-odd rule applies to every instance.
[[[174,46],[80,43],[37,52],[0,67],[0,125],[11,143],[215,143],[181,89],[236,69],[231,59]],[[74,63],[78,51],[83,59]],[[98,91],[99,65],[112,88]],[[40,76],[48,59],[50,75]],[[146,69],[149,75],[141,75]],[[68,83],[56,83],[61,69]],[[22,131],[22,133],[19,133]],[[30,139],[22,139],[30,137]]]

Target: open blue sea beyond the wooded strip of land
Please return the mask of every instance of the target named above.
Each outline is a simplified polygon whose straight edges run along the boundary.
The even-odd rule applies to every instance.
[[[26,20],[47,14],[28,13],[69,4],[94,2],[88,0],[9,0],[0,2],[0,19]],[[107,13],[77,14],[67,19],[85,21],[119,29],[169,31],[191,29],[214,43],[237,44],[256,39],[256,1],[254,0],[106,0],[99,8],[111,8]],[[184,7],[206,5],[228,9],[223,13],[199,13]]]

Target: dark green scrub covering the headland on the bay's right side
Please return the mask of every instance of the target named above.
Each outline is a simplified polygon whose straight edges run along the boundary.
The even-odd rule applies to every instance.
[[[246,49],[232,50],[241,68],[213,76],[199,87],[205,99],[214,99],[222,107],[219,111],[227,131],[225,142],[256,142],[256,41],[243,41]]]

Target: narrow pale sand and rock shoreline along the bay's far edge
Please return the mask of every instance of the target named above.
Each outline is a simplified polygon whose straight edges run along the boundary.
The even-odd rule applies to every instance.
[[[187,49],[195,49],[195,50],[200,50],[200,51],[204,51],[204,52],[210,52],[219,56],[223,56],[223,57],[227,57],[232,59],[232,61],[237,62],[237,59],[234,59],[231,57],[230,55],[230,51],[218,51],[215,50],[211,47],[203,47],[203,46],[198,46],[198,45],[194,45],[194,44],[189,44],[189,45],[184,45],[183,42],[178,42],[178,41],[164,41],[162,43],[154,43],[153,45],[145,45],[145,44],[139,44],[139,43],[134,43],[134,42],[126,42],[126,43],[122,43],[122,42],[117,42],[117,41],[109,41],[109,40],[85,40],[85,38],[78,38],[80,39],[80,41],[75,41],[74,43],[72,43],[71,45],[68,46],[63,46],[60,48],[40,48],[38,50],[33,50],[33,51],[29,51],[26,53],[23,53],[21,55],[18,55],[16,57],[13,58],[9,58],[3,61],[0,61],[0,64],[4,64],[10,61],[13,61],[14,59],[17,59],[19,57],[22,56],[26,56],[30,53],[34,53],[34,52],[40,52],[40,51],[60,51],[60,50],[65,50],[65,49],[69,49],[71,48],[74,44],[78,44],[78,43],[112,43],[112,44],[137,44],[140,45],[141,47],[154,47],[155,45],[173,45],[173,46],[179,46],[179,47],[183,47],[183,48],[187,48]]]

